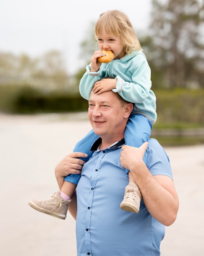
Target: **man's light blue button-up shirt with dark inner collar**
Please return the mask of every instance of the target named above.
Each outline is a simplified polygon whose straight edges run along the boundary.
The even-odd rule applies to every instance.
[[[129,183],[119,159],[124,139],[105,150],[97,150],[99,140],[77,185],[77,255],[160,255],[165,226],[149,214],[143,200],[137,214],[120,209]],[[172,178],[169,158],[156,139],[149,139],[147,168],[152,175]]]

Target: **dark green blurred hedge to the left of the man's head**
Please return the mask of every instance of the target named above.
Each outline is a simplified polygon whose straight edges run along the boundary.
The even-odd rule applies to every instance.
[[[4,91],[5,99],[10,99],[9,104],[6,100],[0,103],[0,109],[4,112],[33,114],[85,111],[88,109],[88,102],[80,94],[70,94],[70,92],[43,93],[28,86],[18,90],[15,88],[15,93],[13,93],[14,91],[9,86],[6,95],[5,88],[4,90],[1,89],[2,87],[0,87],[0,93]],[[13,94],[12,97],[11,94]]]

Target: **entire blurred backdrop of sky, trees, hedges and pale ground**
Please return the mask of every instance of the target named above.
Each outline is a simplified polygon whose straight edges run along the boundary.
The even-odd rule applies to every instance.
[[[97,49],[94,24],[110,9],[129,16],[147,56],[151,137],[170,155],[180,197],[162,255],[204,255],[204,1],[0,0],[0,256],[76,255],[71,217],[65,225],[27,202],[55,192],[55,165],[90,130],[79,81]]]

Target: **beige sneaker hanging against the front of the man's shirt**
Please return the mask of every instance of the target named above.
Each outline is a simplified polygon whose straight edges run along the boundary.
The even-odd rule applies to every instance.
[[[125,195],[120,207],[124,211],[138,213],[140,210],[141,199],[142,194],[138,185],[134,182],[129,182],[129,184],[125,187]]]

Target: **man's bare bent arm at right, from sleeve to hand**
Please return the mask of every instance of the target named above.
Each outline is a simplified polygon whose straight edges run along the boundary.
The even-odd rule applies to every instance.
[[[123,146],[121,165],[130,170],[138,184],[147,210],[165,226],[171,225],[178,212],[178,195],[173,180],[167,175],[153,176],[143,162],[148,143],[140,148]]]

